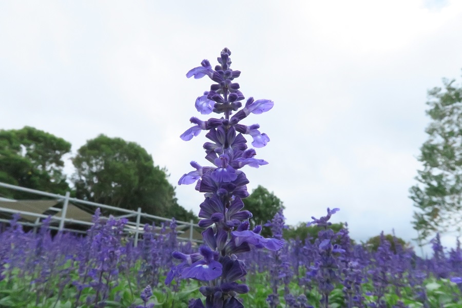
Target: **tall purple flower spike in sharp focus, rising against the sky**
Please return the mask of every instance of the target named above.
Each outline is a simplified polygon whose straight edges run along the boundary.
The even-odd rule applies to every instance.
[[[214,84],[209,91],[203,92],[195,102],[201,114],[215,112],[223,114],[219,119],[210,118],[202,121],[192,117],[194,126],[181,134],[184,141],[191,140],[206,130],[204,143],[205,159],[213,166],[203,167],[191,162],[195,168],[184,174],[179,185],[196,183],[196,190],[204,192],[205,200],[200,205],[200,227],[206,228],[202,233],[204,244],[199,253],[185,255],[174,252],[172,257],[181,262],[173,266],[165,280],[170,284],[176,277],[196,279],[204,282],[200,292],[205,296],[205,306],[201,299],[191,300],[189,308],[240,308],[242,303],[237,294],[247,293],[249,288],[237,282],[246,275],[245,264],[236,254],[248,252],[253,247],[277,251],[284,242],[280,239],[266,239],[259,233],[261,228],[249,230],[248,219],[252,213],[243,210],[242,198],[248,196],[248,180],[240,169],[248,165],[258,168],[266,165],[262,159],[256,159],[256,151],[247,148],[245,135],[252,138],[256,148],[264,147],[269,137],[260,132],[258,124],[243,125],[240,121],[249,114],[261,114],[273,108],[271,100],[249,98],[242,106],[244,95],[235,79],[241,74],[230,68],[231,52],[225,48],[218,57],[219,65],[212,69],[210,62],[204,60],[201,66],[187,72],[186,77],[195,79],[208,76]]]

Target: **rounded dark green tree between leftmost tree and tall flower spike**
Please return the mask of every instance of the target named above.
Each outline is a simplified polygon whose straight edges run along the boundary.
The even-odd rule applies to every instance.
[[[88,140],[72,159],[78,198],[165,216],[176,203],[166,169],[155,166],[147,151],[134,142],[101,134]]]

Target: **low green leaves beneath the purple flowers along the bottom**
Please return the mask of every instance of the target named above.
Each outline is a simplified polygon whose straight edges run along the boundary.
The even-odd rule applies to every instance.
[[[7,269],[8,269],[7,264]],[[137,262],[132,267],[126,268],[125,272],[121,272],[119,279],[114,280],[113,287],[110,288],[108,299],[105,300],[107,307],[117,308],[134,308],[137,305],[142,305],[143,302],[140,299],[140,293],[145,287],[139,285],[136,281],[137,273],[140,270],[141,263]],[[59,266],[57,271],[65,271],[66,268],[70,268],[69,282],[78,280],[78,261],[66,262]],[[21,270],[21,272],[23,269]],[[9,271],[7,271],[8,273]],[[40,272],[40,269],[39,269]],[[0,281],[0,308],[55,308],[55,307],[79,307],[79,308],[91,308],[93,304],[87,305],[85,301],[80,304],[75,303],[75,297],[77,293],[76,287],[72,283],[62,284],[59,279],[52,278],[47,281],[46,290],[48,292],[37,293],[40,290],[40,285],[31,283],[36,277],[35,275],[18,275],[20,273],[19,268],[12,269],[12,275],[7,275],[5,279]],[[279,273],[262,272],[254,273],[250,272],[246,276],[245,283],[251,288],[251,291],[246,294],[240,294],[239,298],[243,300],[245,307],[252,308],[266,308],[268,304],[266,298],[269,294],[273,293],[271,284],[268,283],[268,279],[271,279],[271,275],[279,275]],[[408,274],[405,274],[407,276]],[[50,275],[52,277],[53,275]],[[56,277],[58,277],[57,275]],[[303,275],[302,275],[303,276]],[[309,288],[307,285],[300,285],[298,278],[300,276],[294,276],[289,284],[289,290],[295,297],[304,294],[309,304],[314,307],[319,307],[319,300],[321,294],[317,291],[317,288]],[[158,285],[152,285],[152,297],[148,303],[155,303],[155,307],[173,308],[173,307],[186,307],[187,302],[190,298],[202,298],[203,296],[199,293],[200,282],[195,280],[182,280],[179,285],[179,291],[172,291],[172,288],[166,287],[162,281],[165,276],[161,277]],[[176,282],[174,282],[176,283]],[[60,287],[60,284],[62,285]],[[396,293],[395,286],[389,285],[382,297],[387,304],[387,307],[393,307],[397,305],[398,301],[402,301],[405,305],[412,308],[420,307],[461,307],[462,297],[460,291],[455,283],[449,281],[449,279],[436,279],[430,277],[424,281],[422,287],[425,287],[427,302],[424,303],[419,300],[416,295],[416,290],[411,287],[409,283],[399,286],[400,296]],[[335,285],[334,290],[329,296],[329,306],[332,308],[345,307],[343,286],[341,284]],[[45,290],[45,288],[43,288]],[[42,290],[42,291],[43,291]],[[374,294],[374,285],[371,280],[363,280],[361,282],[362,296],[364,296],[364,305],[372,304],[377,301],[377,296]],[[87,296],[94,296],[95,290],[91,287],[85,287],[83,292],[83,298]],[[279,290],[279,301],[278,307],[285,307],[284,291]]]

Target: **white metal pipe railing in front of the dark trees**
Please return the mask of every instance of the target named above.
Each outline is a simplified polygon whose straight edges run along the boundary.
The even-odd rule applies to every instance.
[[[63,195],[57,195],[57,194],[51,194],[50,192],[46,191],[41,191],[41,190],[35,190],[35,189],[30,189],[30,188],[25,188],[25,187],[20,187],[20,186],[15,186],[7,183],[2,183],[0,182],[0,187],[8,188],[8,189],[14,189],[14,190],[19,190],[19,191],[24,191],[28,192],[30,194],[34,195],[40,195],[44,197],[49,197],[53,200],[56,200],[58,202],[63,202],[63,208],[56,208],[56,207],[49,207],[48,210],[53,210],[56,212],[55,215],[51,216],[51,221],[52,222],[59,222],[59,226],[53,226],[51,225],[51,229],[56,229],[56,230],[66,230],[70,232],[77,232],[77,233],[86,233],[86,231],[83,230],[78,230],[78,229],[72,229],[72,228],[66,228],[66,223],[72,223],[72,224],[80,224],[84,226],[91,226],[93,225],[92,222],[89,221],[84,221],[80,219],[75,219],[75,218],[69,218],[67,216],[67,212],[70,206],[73,206],[73,203],[76,204],[84,204],[90,207],[94,207],[94,210],[97,208],[104,208],[104,209],[110,209],[112,211],[117,211],[118,213],[121,213],[121,215],[114,215],[114,218],[120,219],[120,218],[127,218],[128,222],[125,225],[125,231],[127,233],[133,234],[134,236],[134,242],[133,244],[137,246],[138,240],[140,237],[140,233],[143,233],[144,226],[141,225],[141,218],[144,218],[148,221],[151,222],[156,222],[156,221],[161,221],[161,222],[172,222],[172,219],[165,218],[165,217],[160,217],[160,216],[155,216],[155,215],[150,215],[146,213],[142,213],[141,207],[138,207],[138,210],[129,210],[125,208],[119,208],[119,207],[114,207],[106,204],[100,204],[100,203],[95,203],[95,202],[90,202],[86,200],[81,200],[77,198],[71,198],[70,197],[70,192],[66,191],[66,194]],[[7,201],[4,199],[4,201]],[[3,202],[3,205],[8,205],[11,202],[11,205],[13,205],[15,202],[21,202],[22,200],[8,200],[8,202]],[[18,213],[20,215],[27,215],[29,217],[35,217],[35,222],[27,222],[27,221],[20,221],[18,223],[21,223],[23,225],[28,225],[34,227],[36,229],[38,226],[42,224],[41,219],[48,218],[49,215],[44,215],[42,213],[35,213],[33,211],[28,211],[28,210],[20,210],[20,209],[14,209],[10,207],[5,207],[5,206],[0,206],[0,212],[3,213],[10,213],[10,214],[15,214]],[[57,215],[61,213],[61,215]],[[91,215],[90,213],[86,212],[87,214]],[[132,221],[134,218],[134,221]],[[7,219],[0,218],[0,222],[9,222]],[[177,232],[178,232],[178,239],[179,240],[185,240],[185,241],[190,241],[190,242],[202,242],[199,239],[194,239],[193,235],[195,233],[195,227],[197,225],[194,223],[194,221],[178,221],[175,220],[177,224]],[[186,227],[186,230],[185,230]],[[187,234],[189,233],[189,234]],[[182,235],[187,235],[187,237],[184,237]]]

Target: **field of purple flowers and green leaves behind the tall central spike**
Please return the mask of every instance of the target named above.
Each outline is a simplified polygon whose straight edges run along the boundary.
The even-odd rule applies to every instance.
[[[290,240],[279,251],[254,249],[241,254],[242,283],[236,295],[247,307],[462,307],[462,251],[444,252],[438,237],[431,259],[382,239],[376,252],[352,245],[348,230],[334,233],[329,217],[316,240]],[[204,289],[195,279],[164,283],[174,251],[197,247],[178,242],[175,222],[146,225],[137,247],[123,233],[125,220],[100,218],[87,236],[52,236],[47,221],[37,233],[24,232],[16,220],[0,233],[0,307],[187,307]],[[278,213],[268,224],[282,234]],[[225,269],[223,269],[225,271]],[[147,285],[152,292],[144,292]],[[143,296],[141,296],[143,293]]]

